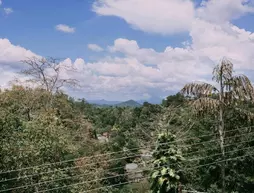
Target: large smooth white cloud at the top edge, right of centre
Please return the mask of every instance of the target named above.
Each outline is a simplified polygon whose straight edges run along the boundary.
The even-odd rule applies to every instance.
[[[98,15],[116,16],[142,31],[174,34],[187,31],[194,18],[191,0],[96,0]]]

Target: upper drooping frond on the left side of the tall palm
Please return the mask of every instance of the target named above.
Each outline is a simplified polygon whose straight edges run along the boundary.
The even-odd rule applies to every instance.
[[[218,93],[218,89],[208,83],[190,83],[186,84],[181,90],[181,94],[194,97],[208,97]]]

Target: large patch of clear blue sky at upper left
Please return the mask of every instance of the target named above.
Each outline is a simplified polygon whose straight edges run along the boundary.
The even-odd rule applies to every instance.
[[[158,36],[133,30],[117,17],[101,17],[92,11],[93,0],[3,0],[3,6],[14,12],[0,18],[0,38],[8,38],[13,44],[22,45],[43,56],[89,60],[96,55],[87,48],[93,42],[101,46],[113,43],[117,38],[138,40],[141,47],[153,47],[163,51],[170,43],[188,39],[188,33],[178,36]],[[1,10],[2,14],[3,10]],[[74,26],[74,34],[59,33],[57,24]],[[180,45],[181,46],[181,45]]]

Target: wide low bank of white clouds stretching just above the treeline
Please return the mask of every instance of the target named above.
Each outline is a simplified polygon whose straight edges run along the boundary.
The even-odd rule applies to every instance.
[[[197,19],[190,35],[192,42],[186,48],[166,47],[157,52],[151,48],[140,48],[137,41],[116,39],[112,52],[120,52],[123,57],[107,56],[95,62],[85,62],[78,58],[63,61],[78,72],[62,72],[62,77],[80,81],[82,90],[76,96],[105,98],[111,100],[142,99],[143,93],[165,96],[175,92],[190,81],[209,80],[213,66],[223,56],[231,58],[238,70],[254,69],[253,34],[232,24],[220,26]],[[25,56],[35,55],[9,40],[0,40],[0,62],[13,67],[7,70],[0,82],[6,82],[15,71],[17,61]],[[9,64],[9,65],[6,65]],[[146,64],[152,64],[147,66]],[[9,74],[9,75],[8,75]]]

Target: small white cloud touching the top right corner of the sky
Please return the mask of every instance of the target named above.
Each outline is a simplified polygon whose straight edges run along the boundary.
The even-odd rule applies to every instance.
[[[252,0],[203,0],[197,9],[198,17],[212,22],[227,22],[253,13]]]

